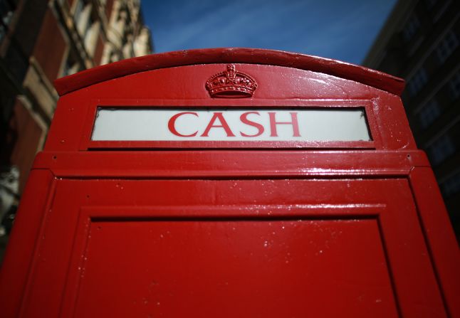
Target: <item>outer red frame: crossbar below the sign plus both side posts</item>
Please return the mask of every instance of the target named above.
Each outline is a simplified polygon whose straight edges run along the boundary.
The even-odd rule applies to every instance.
[[[442,204],[439,190],[427,184],[427,176],[432,176],[431,169],[427,158],[422,152],[295,152],[281,151],[275,152],[242,152],[224,154],[218,151],[197,152],[193,156],[187,155],[187,152],[137,152],[136,164],[126,169],[126,160],[132,156],[129,152],[116,152],[117,160],[112,160],[115,153],[110,152],[75,152],[68,153],[42,153],[37,157],[35,166],[36,172],[31,176],[28,182],[26,193],[35,192],[36,187],[42,189],[42,194],[29,194],[32,198],[23,201],[21,211],[36,211],[36,223],[19,221],[16,223],[14,235],[19,235],[26,230],[29,233],[28,238],[12,237],[12,245],[9,246],[8,259],[19,260],[19,256],[13,253],[23,253],[33,251],[35,257],[31,257],[31,252],[26,252],[23,258],[23,266],[17,266],[16,263],[6,262],[3,272],[9,272],[9,275],[2,277],[0,285],[0,294],[9,295],[2,306],[5,309],[5,317],[16,317],[14,312],[19,309],[19,300],[23,295],[25,288],[25,277],[30,270],[28,265],[31,259],[36,259],[39,250],[33,248],[36,242],[39,242],[43,235],[44,222],[49,218],[51,212],[50,204],[54,201],[55,192],[54,180],[68,179],[78,180],[81,176],[90,179],[107,179],[113,184],[129,181],[130,179],[344,179],[352,180],[355,178],[385,178],[388,180],[394,178],[403,178],[411,181],[412,193],[417,202],[417,212],[422,224],[427,224],[428,228],[422,227],[425,240],[429,246],[429,255],[433,262],[437,281],[446,307],[449,310],[450,317],[457,317],[459,306],[454,302],[459,295],[459,284],[456,270],[459,260],[452,251],[456,250],[456,241],[454,235],[449,229],[449,220],[446,214],[439,210]],[[184,157],[187,160],[184,161]],[[261,161],[260,158],[266,158]],[[283,159],[284,158],[284,159]],[[213,160],[211,160],[213,159]],[[259,159],[256,161],[256,159]],[[221,166],[215,166],[215,162],[221,161]],[[322,164],[318,164],[322,162]],[[376,162],[380,166],[376,166]],[[102,168],[102,166],[104,168]],[[176,169],[171,169],[173,166]],[[359,167],[359,169],[357,169]],[[44,169],[44,170],[43,170]],[[50,170],[48,170],[50,169]],[[50,173],[51,172],[51,173]],[[53,178],[54,176],[54,178]],[[422,178],[413,181],[415,178]],[[47,181],[49,186],[43,187],[43,181]],[[429,179],[428,179],[429,181]],[[323,192],[323,190],[321,190]],[[41,208],[35,208],[36,200],[43,201]],[[28,203],[26,203],[28,202]],[[48,202],[48,203],[46,203]],[[30,206],[28,206],[30,204]],[[437,211],[434,213],[434,211]],[[22,213],[22,214],[21,214]],[[29,216],[21,212],[20,216]],[[101,214],[97,215],[102,216]],[[108,215],[105,215],[108,216]],[[21,218],[19,218],[21,220]],[[41,221],[40,221],[41,220]],[[388,223],[391,227],[391,223]],[[40,230],[40,233],[37,232]],[[404,230],[407,230],[404,228]],[[78,232],[80,233],[80,232]],[[442,235],[440,235],[442,234]],[[441,255],[440,255],[441,254]],[[446,262],[445,260],[449,260]],[[414,268],[411,267],[411,270]],[[30,275],[30,274],[29,274]],[[29,278],[30,279],[30,278]],[[12,291],[9,286],[17,287]],[[409,295],[412,292],[404,293]],[[59,293],[61,294],[61,292]],[[62,316],[64,317],[64,316]],[[404,315],[411,317],[411,314]],[[421,316],[416,316],[421,317]]]

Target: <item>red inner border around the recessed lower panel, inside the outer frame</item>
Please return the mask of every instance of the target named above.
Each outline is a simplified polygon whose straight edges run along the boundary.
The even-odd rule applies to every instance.
[[[229,187],[235,183],[236,187]],[[314,187],[317,183],[320,184]],[[54,211],[58,214],[53,218],[48,216],[43,232],[48,240],[39,241],[40,245],[36,253],[40,253],[41,257],[34,258],[36,263],[32,266],[31,280],[26,286],[23,299],[25,305],[21,308],[20,314],[22,316],[29,317],[33,313],[38,317],[43,315],[55,317],[60,312],[61,317],[68,317],[69,313],[73,312],[73,302],[77,295],[75,293],[78,293],[78,280],[81,279],[78,268],[81,267],[81,262],[84,262],[85,253],[82,254],[82,250],[85,250],[88,226],[90,226],[88,222],[91,219],[95,222],[100,218],[120,221],[120,218],[121,220],[145,218],[226,220],[251,217],[275,220],[371,217],[381,224],[382,244],[387,248],[387,262],[389,262],[390,276],[394,277],[393,288],[396,293],[394,297],[399,303],[400,314],[404,317],[444,317],[437,282],[424,248],[422,231],[417,223],[417,213],[414,205],[409,201],[412,200],[412,195],[407,180],[199,180],[199,184],[205,186],[204,189],[211,189],[211,187],[214,189],[211,185],[216,184],[221,190],[218,191],[220,195],[216,196],[215,203],[212,191],[203,191],[201,196],[183,196],[182,193],[187,192],[187,189],[195,188],[193,184],[183,179],[177,181],[88,179],[84,182],[62,179],[58,180],[57,184],[58,192],[55,194],[49,213]],[[149,184],[157,184],[157,186],[152,188],[148,186]],[[256,191],[251,184],[258,185],[259,190]],[[270,184],[271,187],[274,186],[273,189],[278,190],[273,190],[272,196],[266,196],[266,191],[271,190],[270,187],[261,186],[262,184]],[[384,191],[387,186],[392,190]],[[95,189],[92,189],[93,187]],[[181,191],[172,191],[178,187]],[[296,191],[303,188],[310,191]],[[156,191],[140,191],[140,189]],[[234,196],[235,191],[239,196]],[[344,191],[350,191],[350,194],[344,197]],[[367,191],[373,195],[368,196]],[[155,195],[152,196],[152,193]],[[71,198],[68,196],[70,194],[72,194]],[[298,194],[298,196],[292,197],[291,194]],[[254,197],[259,196],[256,206],[248,205]],[[285,205],[276,204],[280,196],[286,202]],[[152,201],[152,198],[155,200]],[[232,204],[236,202],[238,204]],[[197,205],[197,203],[201,204]],[[203,205],[206,203],[208,206]],[[80,206],[88,207],[80,208]],[[66,213],[63,213],[63,209]],[[130,213],[127,213],[127,210]],[[75,214],[74,211],[80,212]],[[399,217],[400,213],[404,214],[404,218]],[[401,243],[404,243],[404,246]],[[56,245],[59,245],[60,255],[55,255]],[[68,264],[66,260],[69,257],[72,257],[69,267],[63,266]],[[43,263],[43,260],[46,260],[46,263]],[[416,271],[414,271],[415,267],[417,267]],[[53,282],[49,281],[50,275],[54,277]],[[48,289],[39,288],[43,285],[47,285]]]

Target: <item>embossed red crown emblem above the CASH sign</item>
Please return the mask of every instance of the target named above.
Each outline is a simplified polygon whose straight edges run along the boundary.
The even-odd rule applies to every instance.
[[[256,88],[256,80],[237,72],[234,64],[227,65],[224,72],[217,73],[206,82],[211,97],[251,97]]]

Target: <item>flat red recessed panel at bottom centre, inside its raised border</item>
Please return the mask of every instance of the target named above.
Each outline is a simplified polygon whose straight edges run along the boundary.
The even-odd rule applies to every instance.
[[[375,219],[91,223],[76,317],[397,317]]]

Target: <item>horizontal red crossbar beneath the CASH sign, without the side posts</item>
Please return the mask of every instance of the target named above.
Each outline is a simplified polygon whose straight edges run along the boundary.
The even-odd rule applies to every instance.
[[[254,179],[407,178],[414,166],[429,166],[423,152],[170,150],[161,152],[41,152],[35,169],[58,178]],[[129,164],[127,164],[129,163]]]

